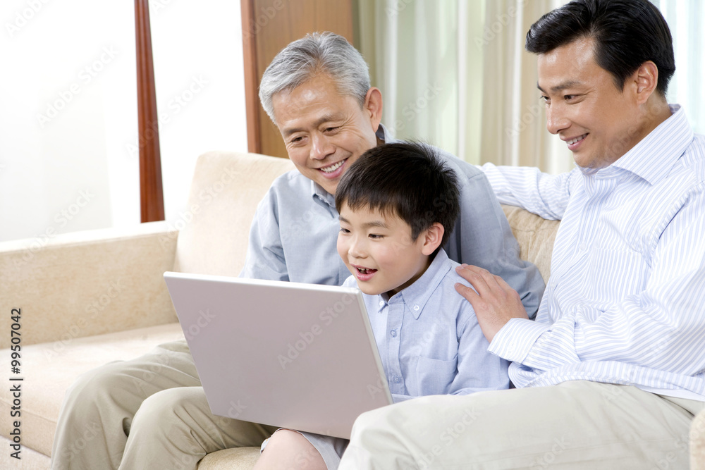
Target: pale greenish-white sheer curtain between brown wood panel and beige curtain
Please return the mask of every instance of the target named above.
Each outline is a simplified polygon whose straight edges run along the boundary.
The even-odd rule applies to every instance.
[[[482,27],[484,2],[360,0],[358,7],[358,46],[372,85],[382,92],[382,122],[398,138],[424,140],[458,154],[467,140],[459,123],[479,135],[479,109],[465,103],[469,93],[479,99],[482,89],[481,74],[467,80],[472,87],[465,83],[462,67],[473,63],[482,70],[482,55],[460,37],[473,25]]]

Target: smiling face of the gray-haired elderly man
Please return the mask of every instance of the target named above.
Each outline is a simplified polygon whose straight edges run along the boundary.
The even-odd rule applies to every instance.
[[[379,111],[371,103],[376,94],[379,90],[370,89],[361,108],[357,99],[341,95],[335,82],[321,74],[272,97],[274,120],[289,159],[330,194],[336,194],[348,166],[377,144],[381,95]]]

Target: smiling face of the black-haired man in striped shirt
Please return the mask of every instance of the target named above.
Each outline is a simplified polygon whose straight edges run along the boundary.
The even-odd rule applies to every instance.
[[[568,144],[582,168],[605,168],[645,137],[639,123],[637,84],[622,92],[597,65],[593,39],[576,39],[539,55],[539,89],[546,101],[546,128]]]

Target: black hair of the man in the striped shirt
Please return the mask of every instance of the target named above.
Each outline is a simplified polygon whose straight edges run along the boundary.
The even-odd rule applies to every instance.
[[[597,65],[607,70],[620,91],[642,63],[658,68],[656,89],[666,97],[675,72],[668,23],[648,0],[573,0],[549,11],[527,32],[526,49],[546,54],[583,37],[594,39]]]

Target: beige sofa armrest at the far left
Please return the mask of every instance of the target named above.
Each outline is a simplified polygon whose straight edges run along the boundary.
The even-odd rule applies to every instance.
[[[176,321],[163,273],[177,235],[153,222],[0,243],[0,348],[18,308],[22,345]]]

